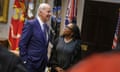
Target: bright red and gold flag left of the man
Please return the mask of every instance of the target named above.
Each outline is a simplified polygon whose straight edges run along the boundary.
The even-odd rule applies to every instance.
[[[17,50],[25,18],[24,0],[14,0],[13,10],[9,30],[9,44],[11,50]]]

